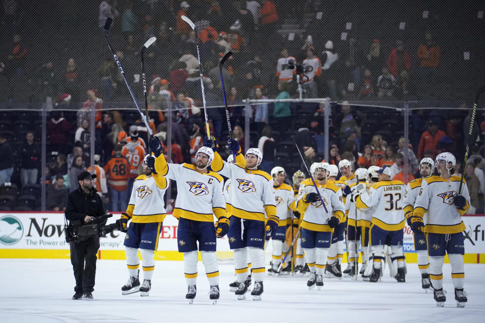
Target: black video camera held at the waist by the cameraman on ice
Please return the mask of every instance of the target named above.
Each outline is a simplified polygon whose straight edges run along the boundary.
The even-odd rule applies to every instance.
[[[105,214],[103,216],[94,217],[88,223],[83,224],[81,220],[74,220],[66,227],[64,233],[66,235],[66,242],[81,242],[89,238],[99,238],[104,234],[110,233],[113,230],[122,230],[118,223],[106,225],[109,218],[113,214]]]

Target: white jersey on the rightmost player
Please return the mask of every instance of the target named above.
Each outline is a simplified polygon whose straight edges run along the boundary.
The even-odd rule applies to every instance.
[[[466,183],[463,182],[462,195],[466,199],[464,210],[459,210],[453,204],[453,198],[460,188],[459,176],[449,179],[440,176],[426,177],[421,183],[416,202],[414,216],[423,219],[424,232],[458,233],[465,230],[461,216],[470,207],[470,195]]]

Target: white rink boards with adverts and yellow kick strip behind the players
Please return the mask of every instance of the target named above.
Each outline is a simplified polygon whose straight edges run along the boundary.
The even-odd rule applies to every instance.
[[[118,219],[117,214],[108,224]],[[464,216],[465,262],[485,263],[485,214]],[[165,218],[155,253],[156,260],[183,260],[177,251],[178,221],[171,215]],[[63,212],[0,212],[0,258],[69,258],[69,244],[64,235]],[[114,231],[101,238],[99,259],[125,259],[125,234]],[[413,235],[406,226],[403,251],[406,261],[416,262]],[[266,248],[271,253],[271,243]],[[230,259],[232,252],[226,237],[217,240],[219,259]],[[346,257],[344,256],[344,261]],[[448,261],[446,259],[446,261]]]

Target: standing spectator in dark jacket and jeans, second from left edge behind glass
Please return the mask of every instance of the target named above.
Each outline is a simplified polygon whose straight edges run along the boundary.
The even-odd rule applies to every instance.
[[[38,169],[40,168],[41,149],[34,142],[34,133],[29,131],[25,134],[25,141],[19,149],[20,156],[20,182],[22,186],[37,183]]]

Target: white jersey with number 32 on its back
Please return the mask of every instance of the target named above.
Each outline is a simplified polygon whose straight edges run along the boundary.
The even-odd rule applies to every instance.
[[[376,206],[372,224],[387,231],[404,228],[404,183],[401,181],[380,181],[374,184],[369,192],[357,197],[357,207],[371,208]]]

